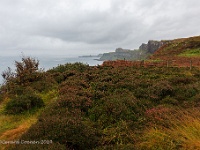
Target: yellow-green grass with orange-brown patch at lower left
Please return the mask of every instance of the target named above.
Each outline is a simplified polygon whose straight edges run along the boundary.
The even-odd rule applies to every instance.
[[[47,93],[39,94],[45,105],[49,105],[57,99],[58,92],[53,89]],[[0,140],[18,140],[38,120],[38,116],[44,110],[35,109],[18,115],[8,115],[5,113],[5,106],[10,99],[5,98],[0,104]],[[47,107],[46,106],[46,107]],[[6,150],[9,145],[0,145],[0,150]]]

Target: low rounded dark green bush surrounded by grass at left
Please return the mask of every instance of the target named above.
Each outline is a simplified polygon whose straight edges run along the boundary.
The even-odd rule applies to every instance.
[[[28,93],[13,97],[6,105],[6,112],[8,114],[19,114],[42,106],[44,106],[44,102],[39,96]]]

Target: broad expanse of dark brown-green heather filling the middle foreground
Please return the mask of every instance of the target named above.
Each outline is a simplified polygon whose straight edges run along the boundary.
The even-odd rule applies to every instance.
[[[178,145],[176,139],[157,132],[157,127],[168,131],[178,117],[176,112],[173,118],[174,110],[200,104],[200,76],[195,68],[88,67],[76,63],[60,65],[46,74],[43,81],[52,83],[49,88],[58,85],[58,99],[21,139],[53,143],[16,145],[13,149],[173,149],[185,143]],[[44,88],[36,90],[42,84],[35,81],[30,86],[16,86],[14,99],[25,95],[27,87],[44,92]],[[176,126],[182,123],[178,119]],[[157,138],[161,144],[171,141],[173,146],[162,146],[155,142]]]

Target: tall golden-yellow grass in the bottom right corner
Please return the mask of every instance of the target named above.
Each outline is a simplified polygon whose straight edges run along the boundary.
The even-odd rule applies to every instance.
[[[160,114],[163,124],[149,126],[143,133],[138,147],[151,150],[199,149],[199,117],[199,108],[186,110],[173,108],[167,113]]]

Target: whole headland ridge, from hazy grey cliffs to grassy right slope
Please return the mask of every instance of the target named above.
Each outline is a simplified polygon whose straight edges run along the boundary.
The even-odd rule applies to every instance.
[[[104,53],[99,60],[169,60],[198,59],[200,55],[200,36],[174,40],[149,40],[138,49],[117,48],[115,52]]]

